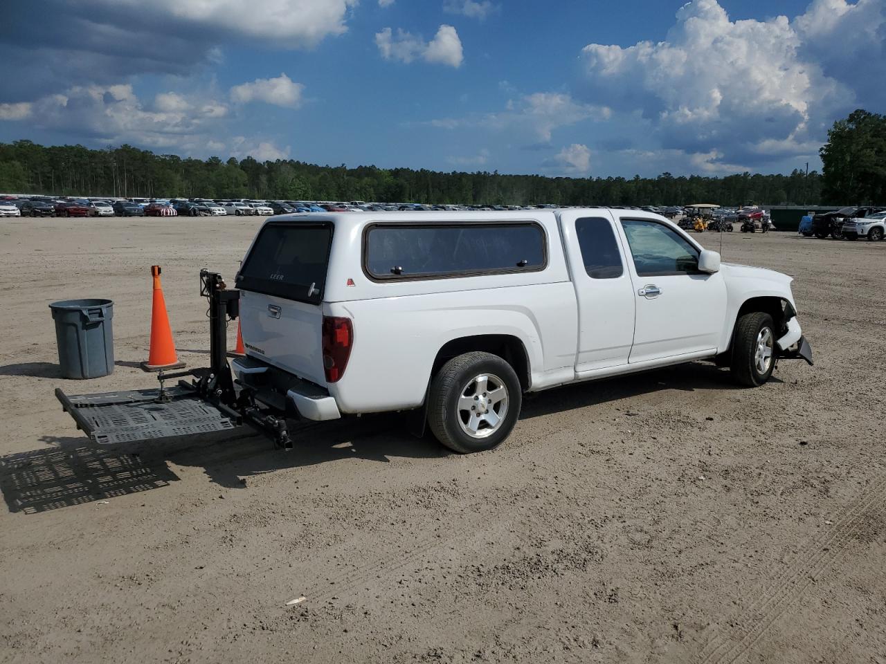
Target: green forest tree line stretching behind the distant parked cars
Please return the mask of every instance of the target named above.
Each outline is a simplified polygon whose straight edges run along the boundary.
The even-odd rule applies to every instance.
[[[318,166],[291,159],[206,160],[131,145],[0,143],[0,192],[85,197],[206,197],[464,205],[860,205],[886,199],[886,117],[837,120],[823,172],[565,178]]]

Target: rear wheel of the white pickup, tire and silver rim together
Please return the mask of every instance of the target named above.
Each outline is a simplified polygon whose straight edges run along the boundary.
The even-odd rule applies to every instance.
[[[510,435],[522,403],[520,381],[504,359],[468,352],[450,359],[431,381],[428,425],[454,452],[483,452]]]

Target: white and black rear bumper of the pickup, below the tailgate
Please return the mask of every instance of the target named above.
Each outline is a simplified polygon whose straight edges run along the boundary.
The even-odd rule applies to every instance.
[[[230,369],[241,387],[253,390],[255,399],[287,414],[313,421],[338,420],[336,400],[313,382],[254,358],[235,358]]]

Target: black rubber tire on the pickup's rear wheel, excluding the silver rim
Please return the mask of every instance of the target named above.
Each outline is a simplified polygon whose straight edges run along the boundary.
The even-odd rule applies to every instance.
[[[470,423],[472,414],[466,408],[460,411],[458,405],[462,396],[477,398],[477,395],[465,393],[476,388],[473,379],[481,374],[489,374],[496,379],[492,381],[493,383],[501,382],[500,387],[505,389],[507,401],[504,416],[501,418],[501,423],[495,426],[494,432],[485,437],[475,437],[462,429],[462,422]],[[501,441],[510,435],[514,425],[517,424],[522,403],[523,390],[513,367],[498,355],[480,351],[468,352],[450,359],[433,377],[428,396],[428,426],[437,440],[453,452],[460,454],[483,452],[501,444]],[[496,405],[483,405],[483,407],[492,410]],[[488,426],[486,429],[483,428],[486,417],[480,414],[477,417],[482,417],[484,420],[480,422],[478,430],[488,429]]]

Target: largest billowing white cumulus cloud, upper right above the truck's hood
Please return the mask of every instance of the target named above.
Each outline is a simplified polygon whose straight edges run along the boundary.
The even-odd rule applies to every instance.
[[[583,94],[641,112],[664,149],[698,155],[709,171],[814,155],[810,148],[859,98],[847,84],[859,58],[852,66],[829,63],[857,48],[858,34],[848,33],[859,21],[869,37],[860,42],[882,53],[882,6],[814,0],[793,21],[732,20],[717,0],[693,0],[661,42],[588,44],[580,57]],[[867,66],[874,71],[886,71],[882,57]]]

